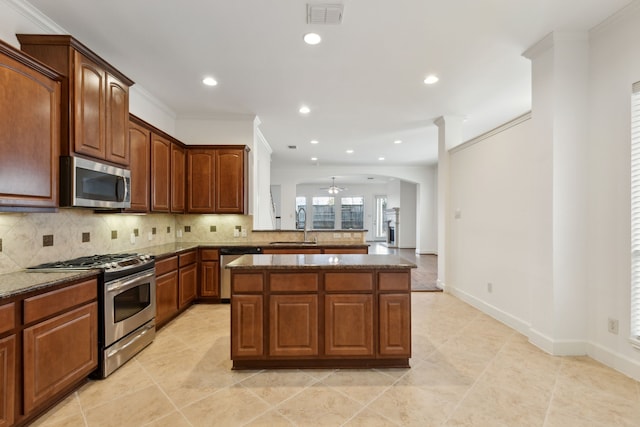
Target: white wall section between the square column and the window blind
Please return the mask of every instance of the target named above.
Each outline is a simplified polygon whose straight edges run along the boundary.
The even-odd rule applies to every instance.
[[[630,95],[640,81],[640,4],[592,30],[589,52],[589,354],[640,378],[630,347]],[[619,320],[619,334],[607,319]]]

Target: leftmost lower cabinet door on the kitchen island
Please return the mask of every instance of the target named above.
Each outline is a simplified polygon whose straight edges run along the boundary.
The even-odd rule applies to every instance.
[[[234,295],[231,299],[231,358],[264,355],[262,295]]]

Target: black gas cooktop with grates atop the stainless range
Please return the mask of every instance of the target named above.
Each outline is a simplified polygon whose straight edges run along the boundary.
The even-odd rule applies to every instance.
[[[69,270],[102,269],[105,271],[118,271],[153,262],[150,255],[145,254],[103,254],[74,258],[66,261],[49,262],[28,267],[29,271],[59,272]]]

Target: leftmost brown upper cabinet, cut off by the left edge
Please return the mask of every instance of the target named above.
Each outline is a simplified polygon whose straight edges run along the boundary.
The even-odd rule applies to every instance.
[[[0,210],[57,207],[62,80],[0,42]]]

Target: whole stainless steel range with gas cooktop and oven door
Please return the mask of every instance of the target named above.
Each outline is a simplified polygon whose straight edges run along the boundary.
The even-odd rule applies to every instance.
[[[99,364],[106,378],[149,345],[156,332],[155,261],[149,255],[93,255],[30,267],[31,271],[101,271],[98,283]]]

